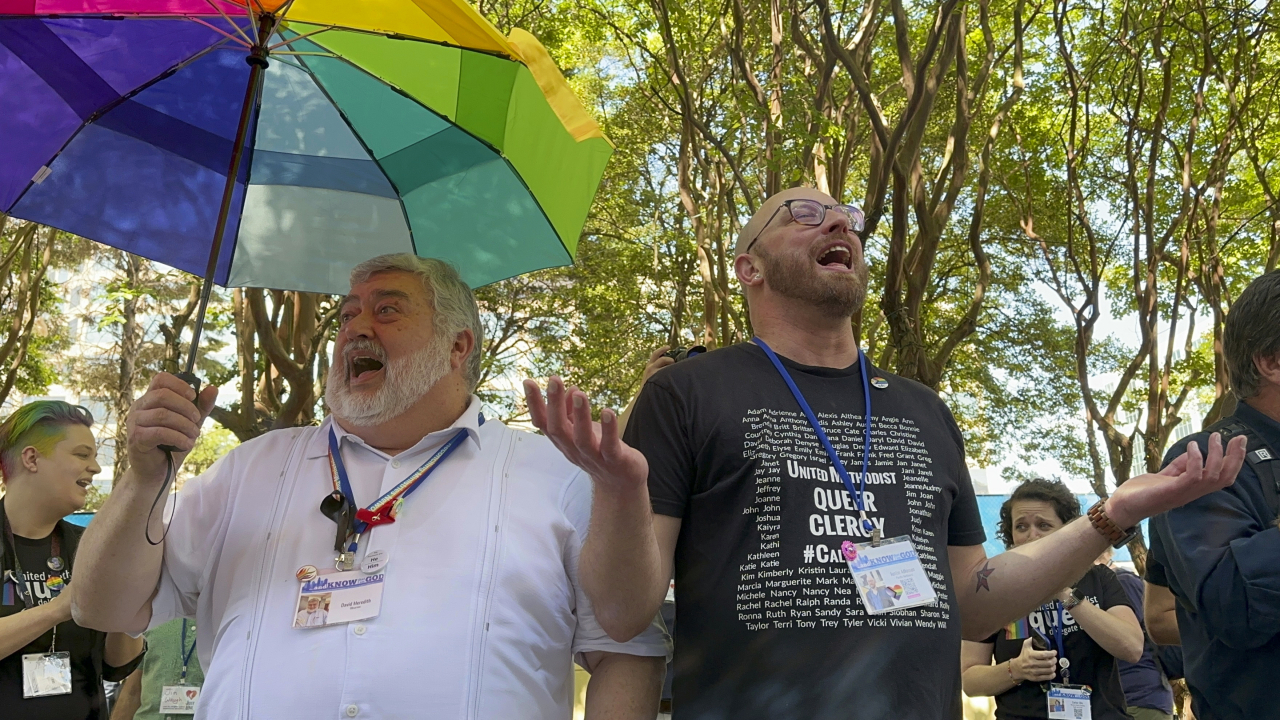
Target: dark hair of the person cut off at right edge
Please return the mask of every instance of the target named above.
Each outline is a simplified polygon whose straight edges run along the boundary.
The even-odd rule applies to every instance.
[[[1254,278],[1231,305],[1222,327],[1222,355],[1240,400],[1261,389],[1253,359],[1280,352],[1280,270]]]

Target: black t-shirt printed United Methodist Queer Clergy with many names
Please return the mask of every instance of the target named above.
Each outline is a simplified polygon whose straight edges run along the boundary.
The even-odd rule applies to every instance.
[[[782,360],[854,477],[858,365]],[[948,544],[986,538],[964,443],[929,388],[870,369],[865,503],[886,538],[915,542],[938,605],[869,616],[844,541],[858,510],[782,377],[755,345],[655,374],[626,441],[649,460],[653,509],[681,518],[676,547],[678,720],[960,716],[960,618]],[[874,384],[881,384],[876,382]]]

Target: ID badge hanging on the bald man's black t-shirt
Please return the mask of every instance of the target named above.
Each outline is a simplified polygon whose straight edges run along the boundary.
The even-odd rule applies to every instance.
[[[872,615],[937,602],[933,584],[920,565],[911,536],[872,543],[845,541],[841,546],[854,573],[863,607]]]

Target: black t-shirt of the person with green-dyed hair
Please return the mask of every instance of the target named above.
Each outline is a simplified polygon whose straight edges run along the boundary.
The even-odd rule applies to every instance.
[[[4,506],[0,505],[0,512]],[[79,544],[79,536],[83,528],[63,521],[58,524],[60,533],[61,551],[64,561],[74,556]],[[18,562],[22,565],[23,580],[32,593],[37,605],[44,605],[52,600],[52,593],[46,584],[49,578],[59,575],[64,582],[70,582],[70,566],[55,573],[49,568],[49,559],[52,550],[52,534],[41,539],[28,539],[14,537]],[[0,543],[6,542],[0,538]],[[5,548],[4,569],[10,570],[12,550]],[[14,583],[4,583],[0,589],[0,618],[6,618],[22,612],[26,609]],[[102,656],[106,650],[106,633],[81,628],[74,621],[65,621],[58,625],[58,652],[69,652],[72,661],[72,692],[63,696],[50,697],[22,697],[22,656],[28,653],[49,652],[54,639],[54,630],[50,629],[27,647],[13,655],[0,659],[0,717],[14,720],[97,720],[105,719],[105,696],[102,693],[102,679],[119,682],[128,676],[142,660],[140,655],[125,667],[110,667],[104,664]]]

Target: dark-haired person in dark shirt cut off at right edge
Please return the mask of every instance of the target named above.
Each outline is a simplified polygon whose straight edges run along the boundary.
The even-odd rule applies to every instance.
[[[1165,460],[1176,462],[1187,447],[1204,447],[1217,432],[1247,441],[1248,460],[1231,487],[1152,518],[1148,596],[1165,607],[1170,596],[1176,598],[1176,624],[1166,620],[1165,632],[1152,635],[1181,642],[1199,720],[1276,717],[1280,270],[1254,278],[1231,304],[1222,357],[1239,398],[1235,411],[1178,441]]]

